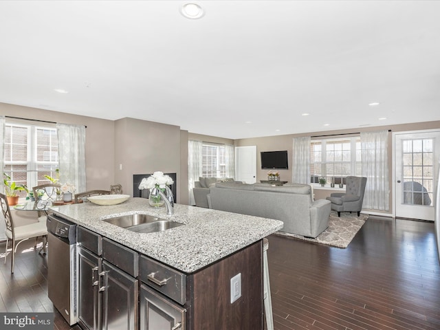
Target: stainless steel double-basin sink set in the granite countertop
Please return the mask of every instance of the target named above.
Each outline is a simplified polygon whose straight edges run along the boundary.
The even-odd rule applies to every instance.
[[[103,219],[102,221],[111,223],[112,225],[118,225],[118,227],[131,230],[132,232],[142,233],[162,232],[163,230],[184,225],[184,223],[164,220],[148,214],[122,215],[121,217]]]

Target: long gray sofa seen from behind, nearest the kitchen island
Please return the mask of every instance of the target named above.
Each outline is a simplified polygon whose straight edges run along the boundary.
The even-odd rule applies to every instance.
[[[307,184],[217,183],[207,197],[214,210],[281,220],[283,232],[306,237],[316,237],[328,227],[331,211],[330,201],[313,200]]]

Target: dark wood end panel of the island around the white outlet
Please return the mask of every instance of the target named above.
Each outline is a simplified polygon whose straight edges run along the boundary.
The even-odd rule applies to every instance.
[[[188,329],[263,329],[263,241],[190,276]],[[241,273],[241,298],[231,303],[230,280]]]

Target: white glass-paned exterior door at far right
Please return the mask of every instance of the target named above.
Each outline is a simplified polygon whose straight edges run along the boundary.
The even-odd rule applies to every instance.
[[[394,136],[395,216],[434,221],[440,131]]]

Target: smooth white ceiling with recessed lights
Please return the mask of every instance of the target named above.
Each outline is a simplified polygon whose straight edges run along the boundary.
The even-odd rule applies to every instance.
[[[440,1],[186,2],[0,1],[0,102],[232,139],[440,120]]]

